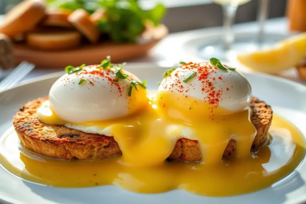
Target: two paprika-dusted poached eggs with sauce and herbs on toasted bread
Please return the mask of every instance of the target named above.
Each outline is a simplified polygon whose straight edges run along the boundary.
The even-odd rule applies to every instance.
[[[247,158],[267,140],[270,106],[252,98],[246,78],[217,59],[181,62],[149,93],[123,67],[110,57],[100,65],[67,66],[49,97],[15,115],[24,146],[62,159],[122,154],[123,163],[138,166]]]

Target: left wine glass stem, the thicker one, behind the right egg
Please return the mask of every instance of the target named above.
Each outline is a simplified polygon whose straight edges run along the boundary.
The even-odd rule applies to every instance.
[[[236,17],[238,6],[223,5],[223,49],[230,50],[234,41],[232,25]]]

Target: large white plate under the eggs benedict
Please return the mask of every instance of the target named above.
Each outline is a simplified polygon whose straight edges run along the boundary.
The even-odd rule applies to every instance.
[[[148,80],[148,89],[156,89],[165,68],[152,64],[129,64],[127,70]],[[12,126],[12,117],[26,102],[48,94],[52,83],[63,74],[58,72],[0,93],[0,135]],[[306,87],[282,78],[245,73],[253,95],[265,100],[275,113],[286,117],[306,135]],[[1,136],[0,136],[1,137]],[[9,203],[293,203],[306,192],[306,162],[271,187],[233,197],[204,197],[174,190],[160,194],[138,194],[116,186],[89,188],[55,188],[21,180],[0,168],[0,200]],[[6,203],[5,202],[5,203]]]

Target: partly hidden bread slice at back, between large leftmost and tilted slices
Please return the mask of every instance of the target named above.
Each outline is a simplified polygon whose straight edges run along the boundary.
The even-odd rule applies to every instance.
[[[42,25],[73,28],[73,25],[68,21],[68,17],[71,13],[72,11],[67,9],[47,10]]]

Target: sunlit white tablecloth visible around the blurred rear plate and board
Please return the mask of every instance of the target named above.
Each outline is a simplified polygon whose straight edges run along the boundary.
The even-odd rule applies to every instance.
[[[241,23],[234,25],[235,33],[257,32],[257,30],[258,30],[257,22],[248,22],[248,23]],[[203,28],[192,31],[172,33],[169,34],[166,38],[164,38],[158,45],[156,45],[148,54],[148,56],[135,59],[131,62],[154,62],[160,66],[172,67],[182,60],[192,61],[195,58],[186,55],[183,44],[185,44],[186,41],[193,38],[199,38],[205,35],[217,35],[217,34],[219,35],[221,32],[222,32],[222,27],[214,27],[214,28]],[[277,33],[285,35],[291,34],[289,33],[288,23],[285,18],[274,18],[267,20],[265,24],[265,32],[267,34],[269,33],[274,33],[274,34]],[[231,65],[232,63],[229,62],[228,64]],[[235,64],[235,66],[237,67],[239,65]],[[239,66],[237,69],[241,71],[250,72],[250,70],[241,66]],[[63,68],[34,69],[28,76],[24,78],[24,80],[29,80],[36,76],[41,76],[44,74],[57,72],[61,70],[63,70]],[[279,75],[288,78],[290,80],[297,81],[299,83],[304,83],[306,85],[306,82],[303,82],[298,78],[297,71],[295,69],[289,69],[288,71],[281,72]]]

